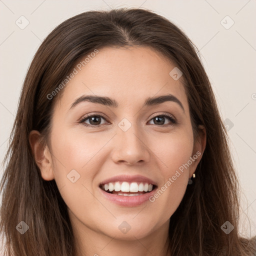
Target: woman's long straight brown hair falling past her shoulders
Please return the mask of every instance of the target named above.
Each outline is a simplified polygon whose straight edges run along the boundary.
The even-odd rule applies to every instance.
[[[66,204],[54,180],[40,175],[28,135],[33,129],[46,143],[53,105],[48,99],[76,62],[105,46],[142,45],[161,52],[182,70],[194,134],[205,126],[206,148],[196,178],[170,217],[171,255],[250,255],[253,244],[238,234],[238,183],[225,127],[198,51],[172,22],[137,8],[87,11],[58,25],[38,48],[25,77],[4,158],[0,233],[5,255],[77,256]],[[67,85],[68,86],[68,85]],[[15,226],[29,229],[20,234]],[[229,221],[233,230],[221,229]]]

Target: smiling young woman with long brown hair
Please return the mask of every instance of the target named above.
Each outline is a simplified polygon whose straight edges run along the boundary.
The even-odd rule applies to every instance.
[[[195,47],[151,11],[88,11],[46,37],[5,162],[6,255],[255,250],[238,235],[237,178]]]

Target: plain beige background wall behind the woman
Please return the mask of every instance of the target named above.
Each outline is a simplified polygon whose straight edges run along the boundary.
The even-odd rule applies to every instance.
[[[233,124],[228,132],[242,188],[240,231],[256,235],[256,0],[0,0],[0,162],[23,79],[41,41],[80,12],[125,6],[167,17],[200,50],[222,118]],[[29,22],[23,29],[20,19]],[[0,177],[2,171],[1,166]]]

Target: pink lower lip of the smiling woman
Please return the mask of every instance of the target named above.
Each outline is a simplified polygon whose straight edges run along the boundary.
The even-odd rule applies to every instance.
[[[110,194],[102,190],[101,188],[99,188],[99,190],[102,192],[103,196],[105,196],[111,202],[121,206],[126,206],[126,207],[138,206],[142,203],[145,203],[146,201],[149,201],[149,197],[155,193],[155,188],[152,191],[141,194],[141,195],[130,195],[130,196]]]

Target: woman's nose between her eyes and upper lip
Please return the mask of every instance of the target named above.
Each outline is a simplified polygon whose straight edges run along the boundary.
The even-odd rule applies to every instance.
[[[128,165],[137,162],[148,162],[150,159],[150,148],[146,145],[146,138],[142,132],[138,132],[135,125],[123,131],[117,127],[117,134],[114,136],[112,160],[115,163],[125,162]]]

